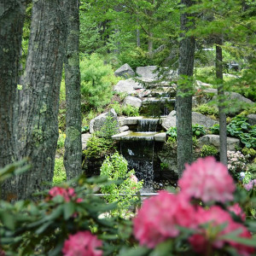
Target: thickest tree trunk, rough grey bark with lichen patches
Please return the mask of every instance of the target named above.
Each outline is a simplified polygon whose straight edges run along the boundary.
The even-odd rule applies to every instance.
[[[32,169],[19,178],[19,198],[48,188],[54,173],[66,29],[62,4],[61,0],[33,1],[18,134],[18,154],[30,158]]]

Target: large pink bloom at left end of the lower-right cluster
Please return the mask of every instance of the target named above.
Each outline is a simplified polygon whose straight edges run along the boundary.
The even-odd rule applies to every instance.
[[[194,218],[195,208],[187,197],[161,191],[159,195],[143,201],[143,207],[133,219],[133,233],[140,245],[153,248],[161,241],[177,236],[177,225],[195,227]]]

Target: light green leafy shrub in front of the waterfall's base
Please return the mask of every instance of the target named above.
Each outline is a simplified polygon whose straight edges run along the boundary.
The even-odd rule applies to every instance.
[[[108,194],[104,198],[106,201],[118,203],[118,209],[113,211],[113,215],[127,217],[132,213],[129,211],[131,204],[138,201],[136,195],[139,189],[143,188],[143,182],[136,182],[134,170],[128,171],[128,163],[118,152],[108,156],[101,167],[101,176],[108,177],[110,181],[123,181],[121,183],[111,183],[102,186],[102,193]]]

